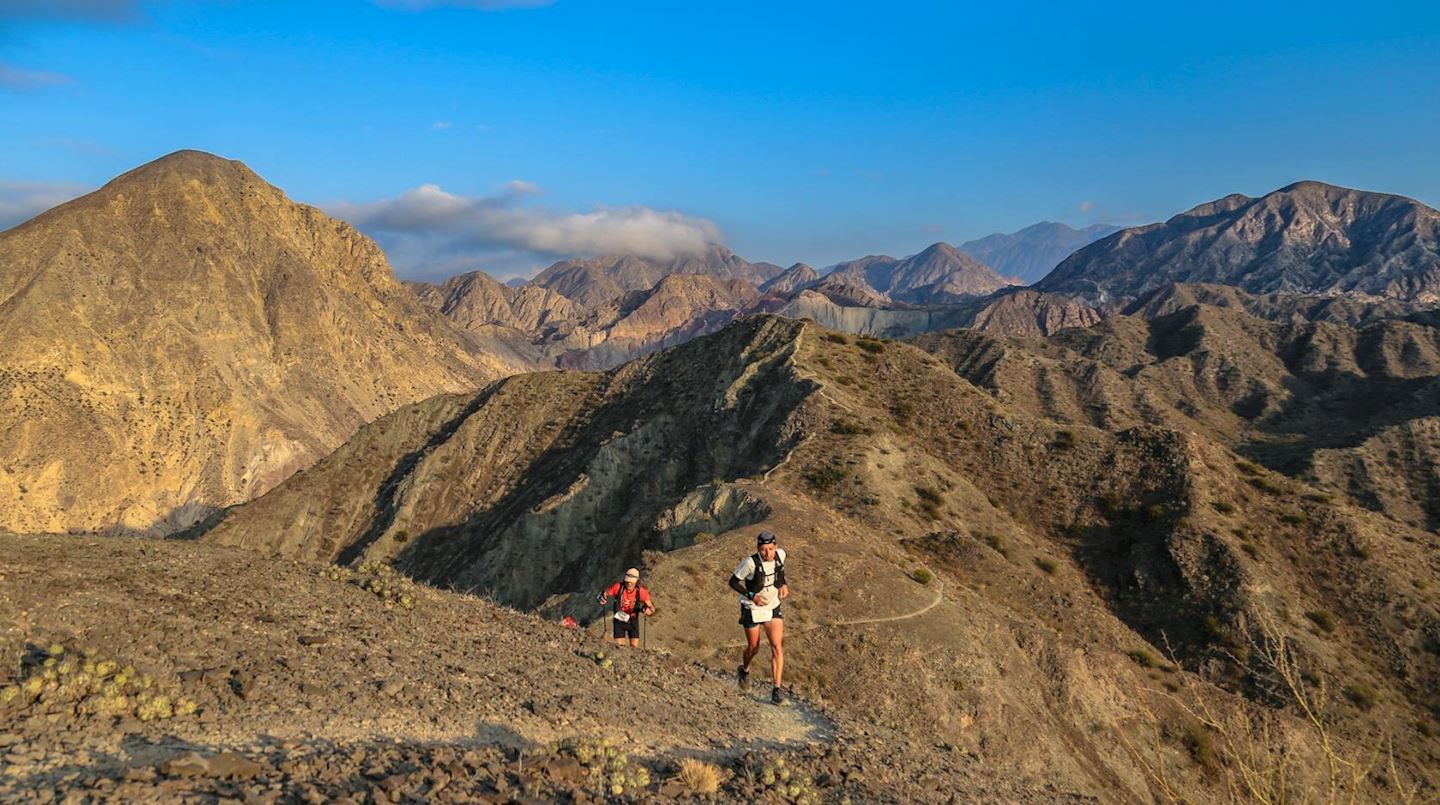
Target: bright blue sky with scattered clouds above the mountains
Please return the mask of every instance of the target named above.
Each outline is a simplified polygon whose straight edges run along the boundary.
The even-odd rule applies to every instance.
[[[397,272],[825,265],[1319,179],[1440,203],[1440,4],[0,0],[0,226],[177,148]]]

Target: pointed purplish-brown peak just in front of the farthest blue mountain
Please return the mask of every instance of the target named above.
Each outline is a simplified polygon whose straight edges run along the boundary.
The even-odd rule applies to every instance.
[[[917,255],[870,255],[842,262],[825,276],[829,284],[863,282],[899,302],[950,304],[994,294],[1009,285],[988,265],[949,243],[935,243]]]

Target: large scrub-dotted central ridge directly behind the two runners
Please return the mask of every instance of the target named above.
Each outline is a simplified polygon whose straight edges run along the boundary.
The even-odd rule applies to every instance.
[[[1320,736],[1267,654],[1283,637],[1302,698],[1345,691],[1325,706],[1335,752],[1392,742],[1392,785],[1436,763],[1434,534],[1179,421],[1057,421],[952,363],[750,318],[611,373],[410,406],[204,539],[389,559],[582,618],[639,563],[654,644],[723,671],[723,579],[763,526],[792,556],[789,677],[913,750],[1104,799],[1208,798],[1238,724],[1266,724],[1292,779],[1316,782]]]

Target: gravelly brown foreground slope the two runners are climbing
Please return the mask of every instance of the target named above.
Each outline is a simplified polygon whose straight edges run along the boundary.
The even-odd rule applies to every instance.
[[[713,799],[694,760],[724,799],[1060,793],[472,596],[387,582],[402,608],[359,583],[383,576],[177,541],[0,547],[7,802]]]

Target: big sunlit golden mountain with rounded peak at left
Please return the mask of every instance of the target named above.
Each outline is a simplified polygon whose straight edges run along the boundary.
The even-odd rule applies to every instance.
[[[353,228],[181,151],[0,233],[0,529],[163,533],[526,369]]]

